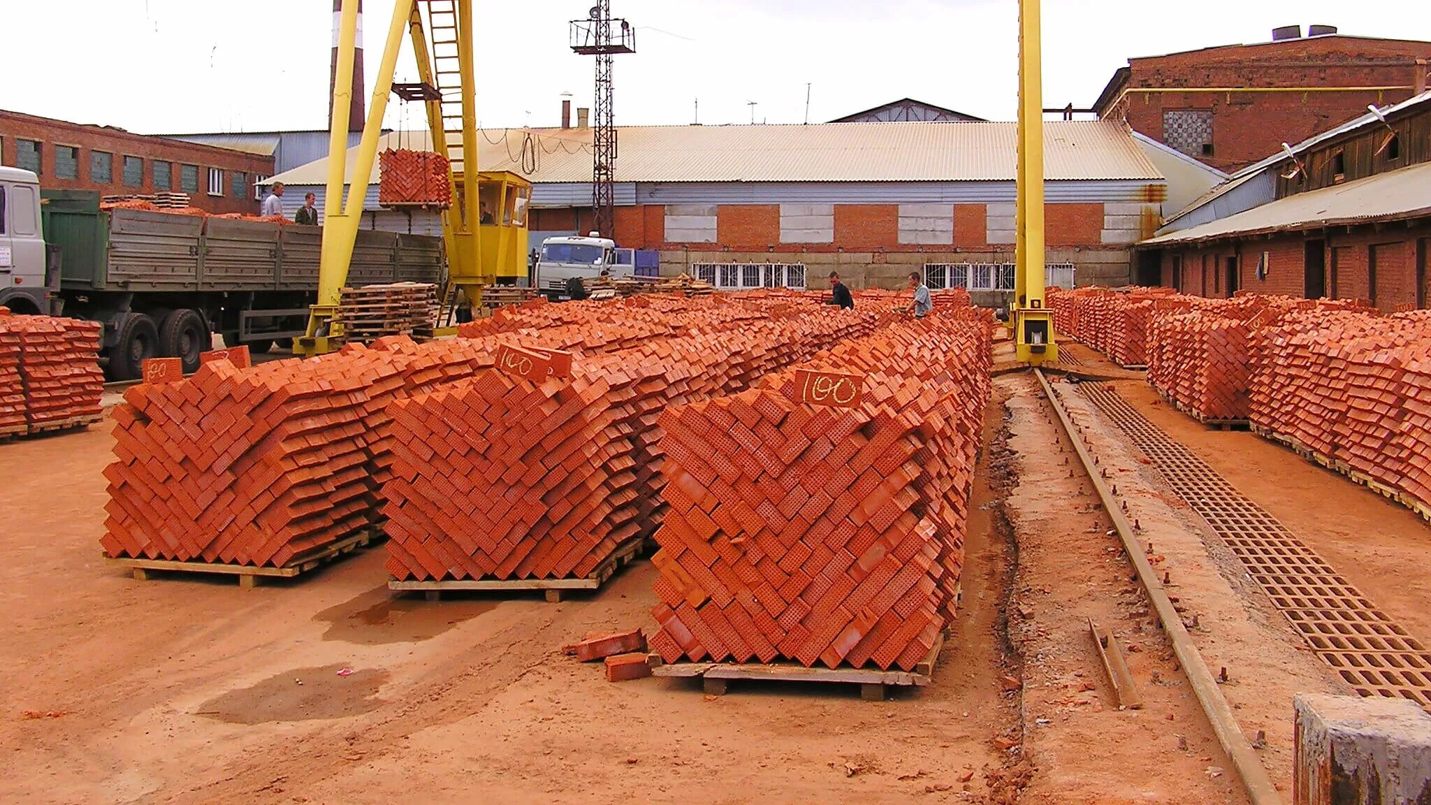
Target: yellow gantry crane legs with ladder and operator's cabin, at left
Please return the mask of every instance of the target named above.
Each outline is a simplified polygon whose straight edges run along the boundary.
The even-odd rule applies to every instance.
[[[362,222],[368,180],[378,155],[388,96],[395,90],[394,70],[404,34],[412,42],[418,85],[401,85],[402,97],[422,100],[432,150],[448,160],[451,206],[442,211],[442,239],[448,275],[444,307],[456,289],[468,299],[481,298],[484,286],[515,284],[527,272],[527,208],[531,182],[508,170],[478,172],[475,89],[475,33],[472,0],[396,0],[378,64],[372,103],[351,168],[343,201],[348,152],[348,110],[352,93],[353,53],[358,40],[359,0],[342,0],[338,29],[338,64],[333,77],[333,113],[328,142],[328,191],[323,202],[323,241],[319,256],[318,302],[312,305],[308,332],[293,339],[303,355],[331,352],[342,345],[333,322],[339,294],[348,281],[353,244]],[[468,172],[472,168],[472,172]]]

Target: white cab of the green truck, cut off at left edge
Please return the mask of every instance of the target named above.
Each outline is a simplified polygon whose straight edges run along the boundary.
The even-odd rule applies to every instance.
[[[0,166],[0,307],[49,314],[52,282],[40,233],[40,179]]]

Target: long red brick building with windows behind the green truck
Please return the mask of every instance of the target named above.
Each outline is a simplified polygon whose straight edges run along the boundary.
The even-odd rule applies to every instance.
[[[6,110],[0,165],[34,170],[47,189],[182,192],[190,205],[220,213],[256,213],[253,183],[273,173],[272,156]]]

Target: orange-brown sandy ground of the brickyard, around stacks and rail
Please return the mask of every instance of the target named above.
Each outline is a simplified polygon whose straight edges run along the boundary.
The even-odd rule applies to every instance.
[[[249,592],[135,582],[99,556],[107,428],[0,444],[0,802],[1241,802],[1032,377],[996,388],[963,616],[934,685],[886,702],[853,686],[611,685],[562,656],[585,632],[653,626],[647,561],[561,604],[394,597],[381,546]],[[1276,445],[1203,431],[1136,384],[1125,394],[1431,632],[1414,516]],[[1266,732],[1264,759],[1288,779],[1292,692],[1339,683],[1070,400],[1199,617],[1208,663],[1229,666],[1244,729]],[[1145,709],[1118,710],[1089,617],[1136,646]]]

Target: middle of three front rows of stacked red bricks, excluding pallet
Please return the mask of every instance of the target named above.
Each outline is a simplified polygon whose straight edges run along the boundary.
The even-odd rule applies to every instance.
[[[492,370],[398,403],[388,570],[398,580],[590,574],[654,529],[660,411],[746,388],[876,321],[827,312],[584,358],[551,351],[568,325],[541,329],[499,350]]]

